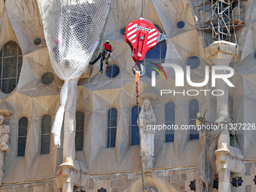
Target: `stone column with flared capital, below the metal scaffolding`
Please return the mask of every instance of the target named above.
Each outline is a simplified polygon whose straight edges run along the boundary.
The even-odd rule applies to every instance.
[[[236,56],[236,44],[227,41],[215,41],[206,48],[206,56],[212,59],[215,66],[229,66],[233,56]],[[228,74],[228,71],[220,70],[218,75]],[[231,192],[230,186],[230,160],[227,155],[230,154],[230,133],[227,129],[227,123],[230,123],[228,113],[228,84],[221,78],[216,79],[215,90],[222,90],[224,94],[217,96],[217,117],[215,124],[221,124],[223,130],[218,138],[218,150],[215,151],[217,156],[216,166],[218,167],[218,191]]]

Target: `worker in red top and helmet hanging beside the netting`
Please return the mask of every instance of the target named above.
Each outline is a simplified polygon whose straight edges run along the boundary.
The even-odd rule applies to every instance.
[[[109,62],[111,61],[112,58],[112,47],[111,44],[109,44],[109,41],[105,41],[105,44],[103,44],[102,47],[102,51],[99,53],[99,56],[93,60],[93,62],[89,62],[90,66],[92,66],[95,62],[97,62],[100,58],[100,69],[98,74],[102,74],[103,73],[103,61],[105,60],[105,58],[107,58],[105,60],[105,64],[107,65],[107,71],[108,71],[108,66],[109,66]]]

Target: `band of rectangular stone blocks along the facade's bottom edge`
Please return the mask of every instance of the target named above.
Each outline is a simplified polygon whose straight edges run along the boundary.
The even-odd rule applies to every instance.
[[[238,177],[242,177],[242,186],[231,187],[232,192],[245,191],[252,192],[256,190],[256,184],[253,181],[256,175],[256,163],[245,163],[246,172],[243,174],[238,173]],[[145,175],[147,178],[149,175]],[[168,186],[169,190],[166,191],[181,191],[189,192],[190,181],[194,181],[197,178],[196,168],[177,168],[177,169],[165,169],[165,170],[154,170],[154,173],[150,175],[154,178],[150,184],[150,187],[154,187],[158,184],[158,181],[162,182],[163,185]],[[235,178],[236,173],[231,174],[231,178]],[[133,173],[118,173],[111,175],[88,175],[87,184],[82,189],[88,192],[95,192],[101,187],[111,192],[123,192],[123,191],[136,191],[130,190],[133,184],[141,182],[141,172]],[[147,180],[147,179],[146,179]],[[1,187],[3,192],[60,192],[54,179],[51,181],[38,181],[38,183],[26,183],[26,184],[4,184]],[[75,187],[74,191],[78,191],[78,187]],[[139,191],[139,190],[138,190]],[[212,192],[218,190],[213,189]]]

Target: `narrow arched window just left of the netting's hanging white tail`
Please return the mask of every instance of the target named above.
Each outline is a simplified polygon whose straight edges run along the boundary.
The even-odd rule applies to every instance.
[[[41,154],[50,152],[50,127],[51,117],[49,114],[45,114],[41,118]]]

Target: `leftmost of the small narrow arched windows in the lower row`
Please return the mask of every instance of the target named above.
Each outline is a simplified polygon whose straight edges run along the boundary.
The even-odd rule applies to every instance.
[[[28,129],[29,120],[26,117],[21,117],[19,120],[19,135],[18,135],[18,156],[25,155],[26,149],[26,132]]]

